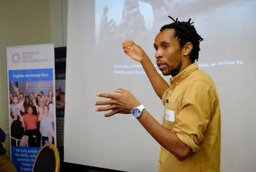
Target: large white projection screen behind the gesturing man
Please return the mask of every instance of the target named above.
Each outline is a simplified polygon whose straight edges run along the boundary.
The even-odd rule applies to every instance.
[[[222,112],[222,171],[255,164],[256,1],[68,1],[65,161],[118,171],[153,172],[160,145],[130,114],[95,112],[98,92],[131,91],[162,123],[163,106],[122,41],[139,44],[155,63],[153,43],[167,16],[191,20],[201,42],[198,65],[215,81]],[[105,11],[105,12],[104,12]],[[169,81],[169,77],[165,77]]]

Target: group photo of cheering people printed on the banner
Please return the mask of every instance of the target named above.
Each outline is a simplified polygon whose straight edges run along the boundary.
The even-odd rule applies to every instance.
[[[9,83],[11,145],[54,144],[56,110],[52,81]]]

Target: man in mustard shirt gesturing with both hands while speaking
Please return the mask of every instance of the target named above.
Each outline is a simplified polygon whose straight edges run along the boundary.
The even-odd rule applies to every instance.
[[[171,18],[169,16],[169,18]],[[132,114],[161,145],[158,171],[220,171],[221,115],[219,98],[211,77],[198,69],[200,41],[193,22],[173,20],[161,27],[155,37],[155,60],[163,75],[171,75],[169,84],[158,74],[143,49],[133,41],[124,41],[124,53],[141,62],[165,111],[162,125],[127,90],[116,94],[98,93],[109,100],[97,101],[97,112]]]

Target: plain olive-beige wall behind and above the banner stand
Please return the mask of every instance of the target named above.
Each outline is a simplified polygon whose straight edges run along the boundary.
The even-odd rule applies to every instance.
[[[50,0],[1,0],[0,11],[0,127],[8,131],[6,46],[51,43]],[[9,153],[9,138],[4,146]]]

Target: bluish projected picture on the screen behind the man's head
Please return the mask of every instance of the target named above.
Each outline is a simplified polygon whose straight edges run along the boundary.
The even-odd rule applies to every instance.
[[[198,33],[204,38],[201,43],[200,67],[243,65],[245,60],[242,54],[241,58],[233,60],[230,51],[223,51],[222,48],[215,48],[212,45],[218,44],[217,37],[229,33],[226,34],[229,39],[222,40],[222,44],[226,44],[228,49],[233,49],[236,41],[233,41],[233,45],[229,44],[229,41],[241,37],[236,33],[243,25],[246,25],[246,20],[237,23],[233,21],[252,15],[248,8],[251,8],[253,3],[250,0],[96,0],[96,44],[101,48],[101,51],[97,51],[96,54],[99,57],[104,54],[108,60],[115,62],[110,64],[114,74],[145,75],[141,65],[134,65],[136,62],[124,55],[122,41],[131,39],[155,61],[153,42],[160,27],[173,22],[167,17],[170,15],[181,21],[188,21],[191,18]],[[217,25],[226,27],[216,27]],[[250,32],[245,34],[241,39],[250,37]],[[215,55],[206,52],[206,47],[212,47]],[[216,56],[216,54],[223,54],[227,58],[223,59],[223,55]],[[236,56],[238,56],[237,53]]]

